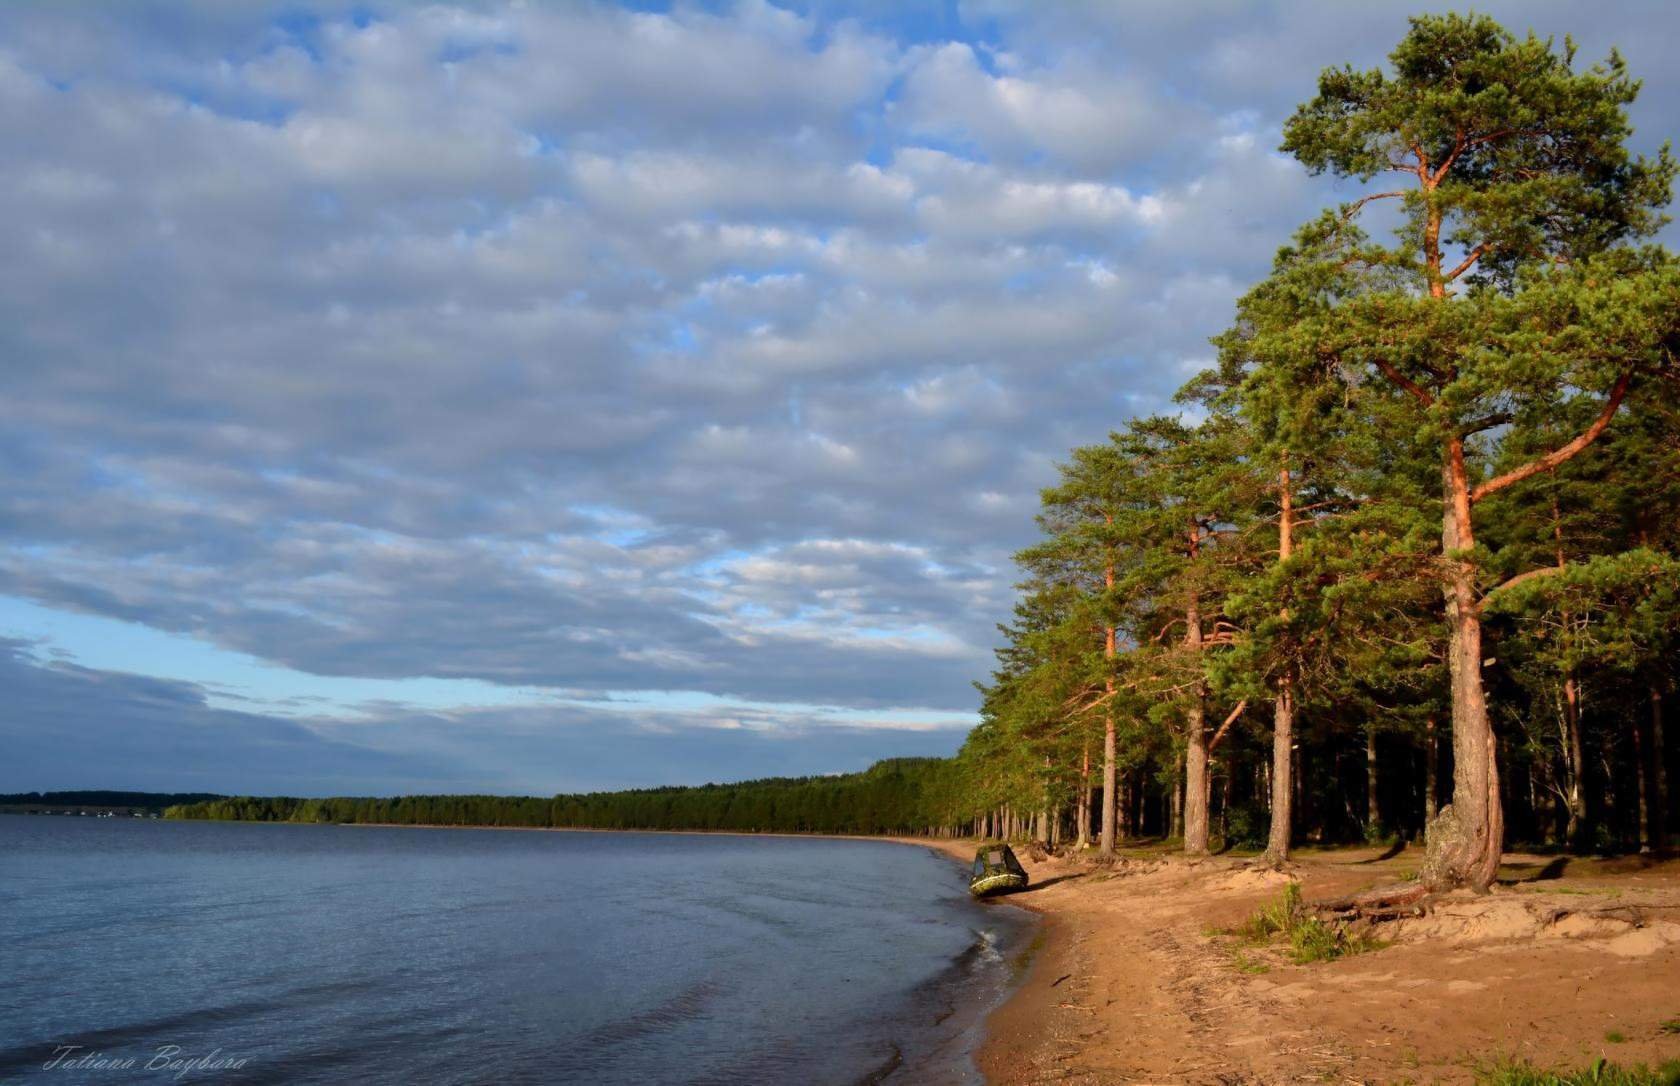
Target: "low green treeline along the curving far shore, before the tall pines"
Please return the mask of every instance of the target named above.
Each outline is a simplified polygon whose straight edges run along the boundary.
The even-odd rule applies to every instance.
[[[942,822],[956,788],[944,758],[892,758],[862,773],[774,777],[732,785],[522,795],[217,797],[166,819],[239,822],[385,822],[570,829],[922,834]]]

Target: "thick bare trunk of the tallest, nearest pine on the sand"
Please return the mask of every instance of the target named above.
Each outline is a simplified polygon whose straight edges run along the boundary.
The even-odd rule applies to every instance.
[[[1470,548],[1470,477],[1463,439],[1448,440],[1441,467],[1446,558],[1446,666],[1453,694],[1453,802],[1430,825],[1420,879],[1430,889],[1468,884],[1485,891],[1499,872],[1505,814],[1499,800],[1499,760],[1482,684],[1482,615]]]

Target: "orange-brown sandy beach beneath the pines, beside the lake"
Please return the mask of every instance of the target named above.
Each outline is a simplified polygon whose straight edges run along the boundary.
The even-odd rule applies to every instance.
[[[973,859],[971,844],[934,844]],[[988,1022],[979,1064],[996,1086],[1468,1083],[1495,1057],[1680,1057],[1680,1034],[1663,1031],[1680,1019],[1680,861],[1510,856],[1510,884],[1381,925],[1389,946],[1294,965],[1278,950],[1238,958],[1218,935],[1289,876],[1230,857],[1021,859],[1033,889],[1011,901],[1043,915],[1045,938]],[[1300,856],[1290,874],[1312,899],[1418,861],[1346,849]]]

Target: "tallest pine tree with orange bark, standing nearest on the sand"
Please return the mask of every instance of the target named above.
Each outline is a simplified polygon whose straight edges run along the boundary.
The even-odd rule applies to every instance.
[[[1673,163],[1630,155],[1621,59],[1584,72],[1574,47],[1514,39],[1485,17],[1420,17],[1393,74],[1331,69],[1285,126],[1314,171],[1408,185],[1326,215],[1309,240],[1359,282],[1297,335],[1305,383],[1383,380],[1441,471],[1443,600],[1453,802],[1431,825],[1426,886],[1485,888],[1504,846],[1495,738],[1482,676],[1477,506],[1594,442],[1648,373],[1672,365],[1680,281],[1630,247],[1662,225]],[[1354,219],[1398,200],[1393,245]],[[1537,420],[1598,407],[1569,440],[1499,474],[1499,449]],[[1520,575],[1519,575],[1520,577]]]

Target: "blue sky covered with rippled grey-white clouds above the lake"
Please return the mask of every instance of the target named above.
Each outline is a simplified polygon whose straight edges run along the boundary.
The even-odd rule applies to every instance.
[[[0,790],[949,755],[1423,3],[0,8]],[[1482,10],[1620,45],[1663,0]],[[1673,230],[1668,232],[1670,244]]]

